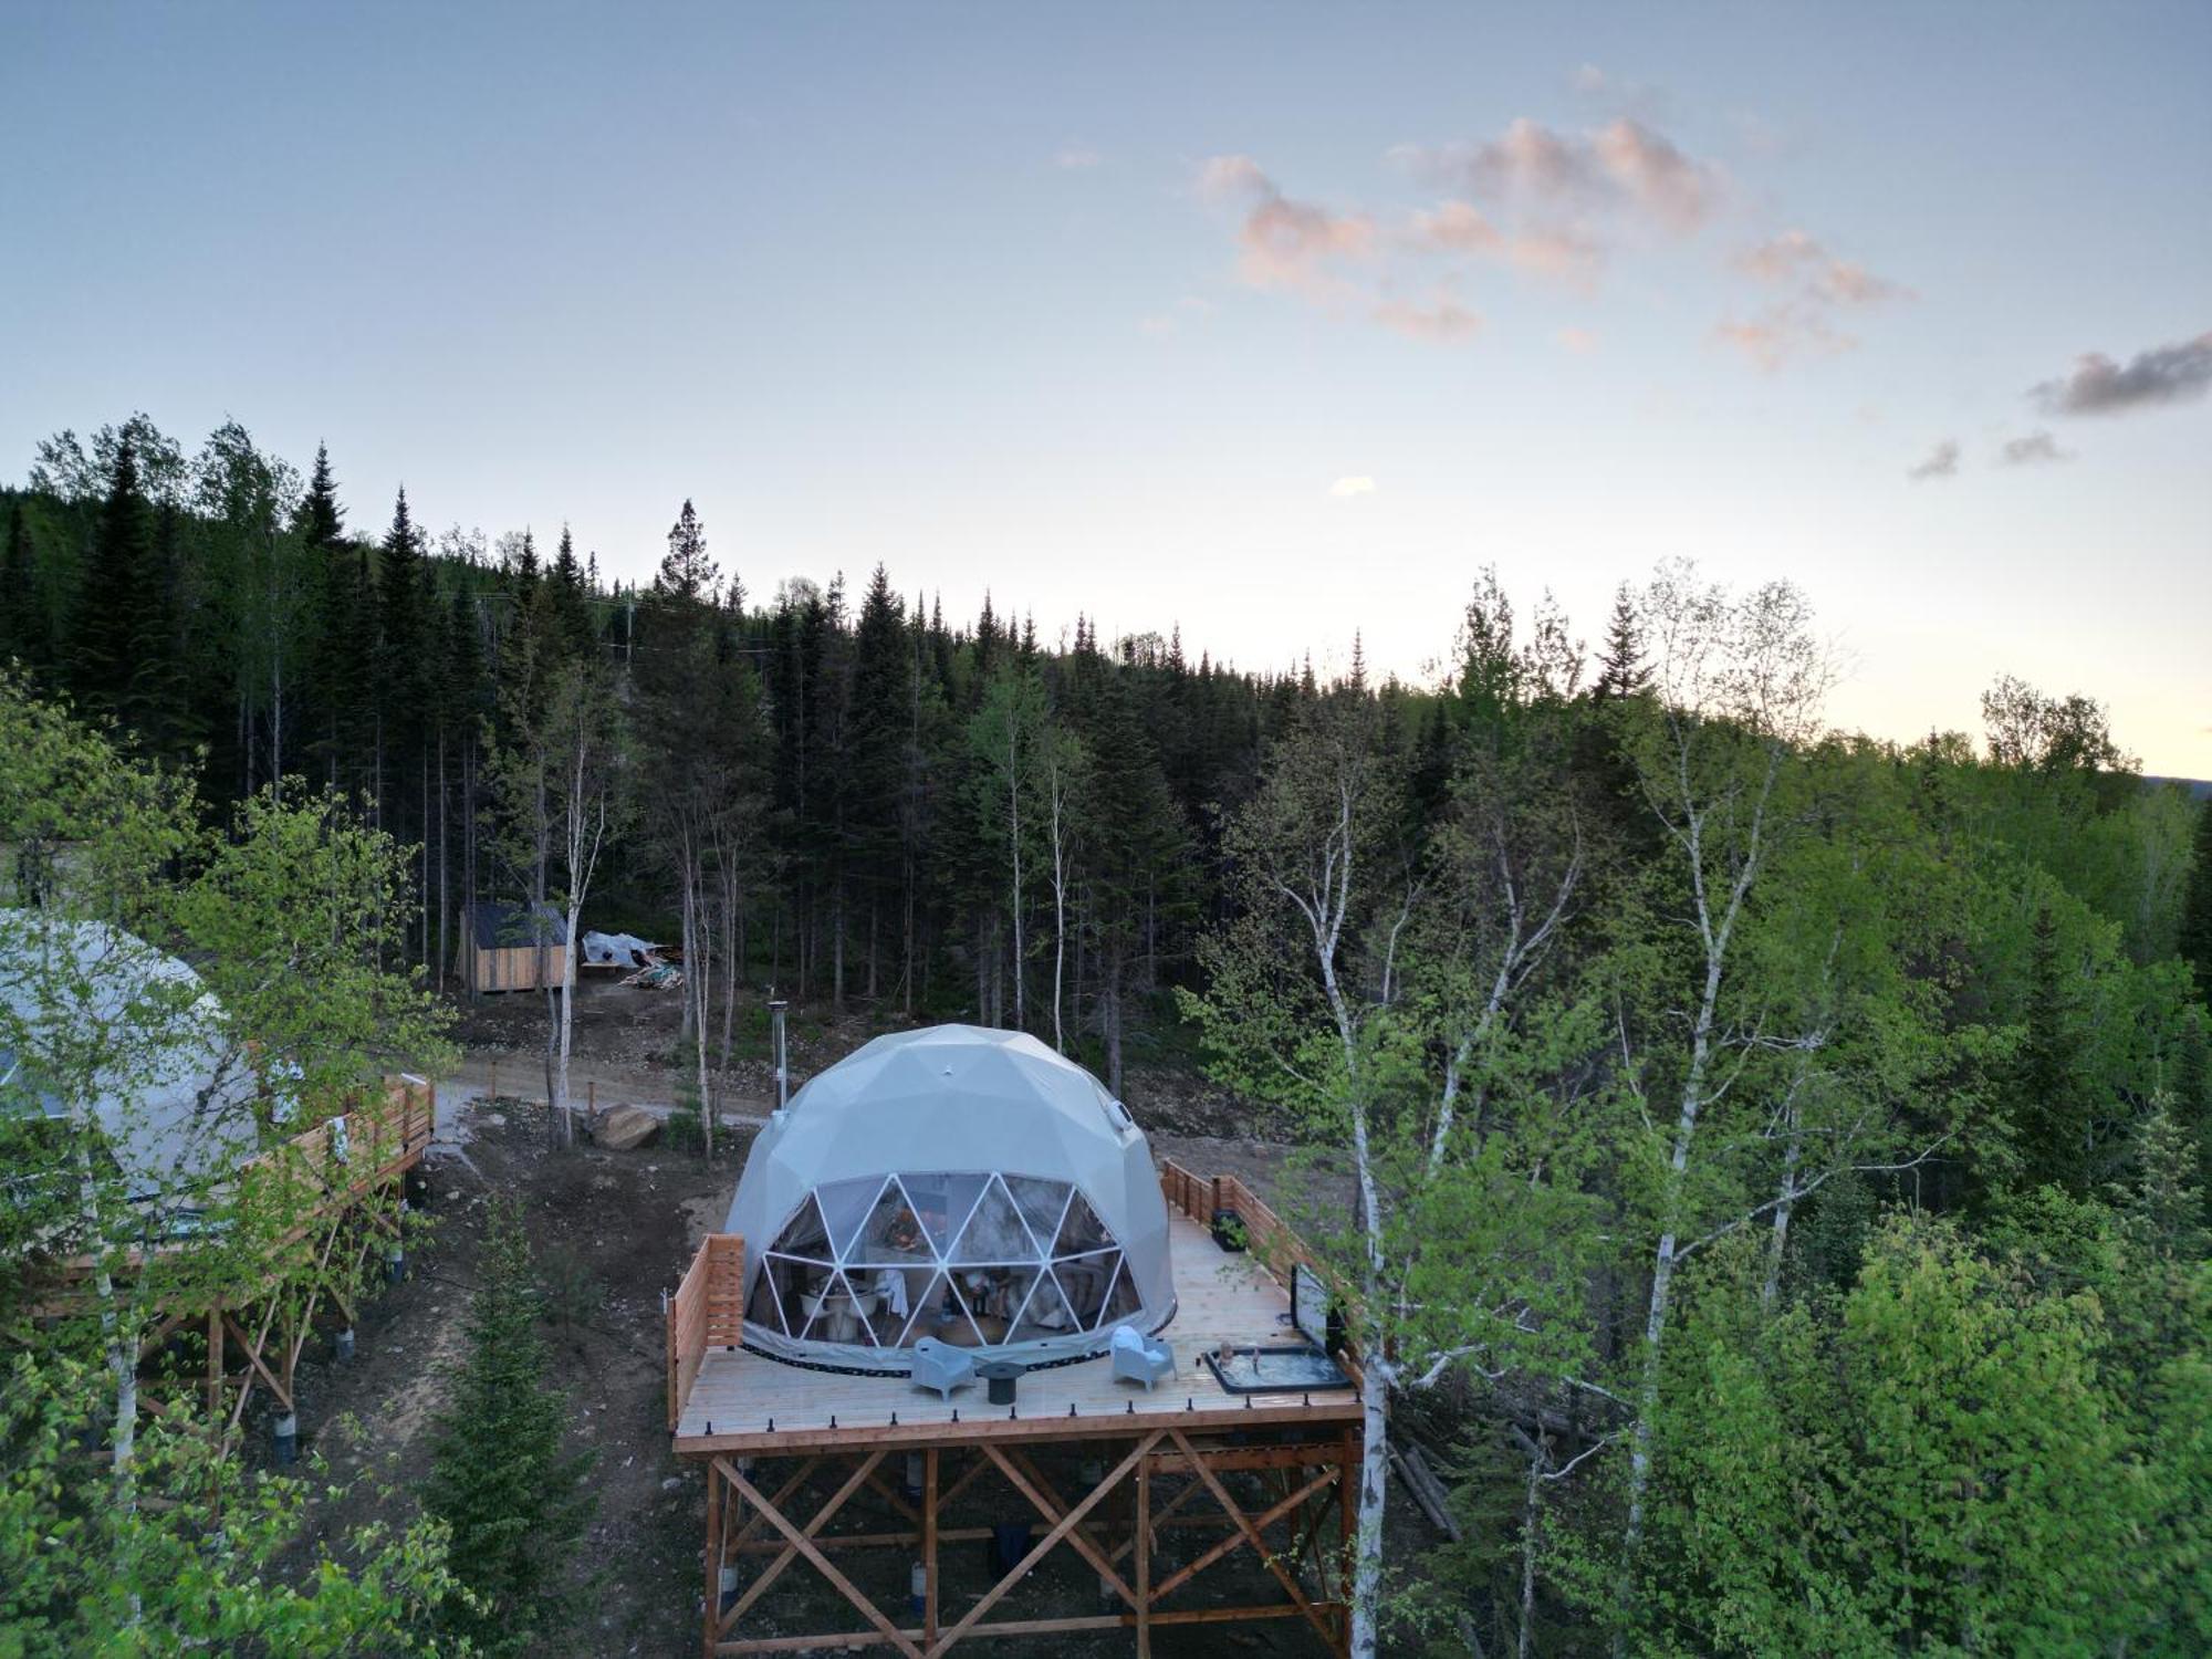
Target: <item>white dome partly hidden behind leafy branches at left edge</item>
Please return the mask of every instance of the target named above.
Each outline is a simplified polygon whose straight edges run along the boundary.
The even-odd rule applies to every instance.
[[[0,909],[0,1055],[46,1113],[100,1121],[133,1197],[254,1152],[254,1077],[221,1004],[190,967],[108,922]]]

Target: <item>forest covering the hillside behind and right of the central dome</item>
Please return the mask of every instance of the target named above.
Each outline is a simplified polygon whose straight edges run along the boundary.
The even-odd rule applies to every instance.
[[[690,502],[611,582],[234,422],[0,493],[0,659],[239,836],[352,801],[378,967],[531,900],[681,940],[701,1088],[770,984],[1234,1088],[1371,1360],[1356,1650],[2203,1652],[2212,810],[2013,677],[1832,730],[1787,582],[1469,584],[1413,686],[761,595]]]

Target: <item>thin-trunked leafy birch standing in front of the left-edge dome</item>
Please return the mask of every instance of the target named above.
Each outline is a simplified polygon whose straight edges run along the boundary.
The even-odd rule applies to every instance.
[[[31,907],[0,909],[0,1093],[40,1119],[9,1159],[29,1199],[9,1223],[86,1261],[128,1504],[148,1312],[299,1232],[232,1177],[378,1062],[442,1057],[440,1022],[376,967],[405,927],[405,860],[334,799],[272,787],[206,841],[188,792],[0,684],[0,841],[33,852]]]

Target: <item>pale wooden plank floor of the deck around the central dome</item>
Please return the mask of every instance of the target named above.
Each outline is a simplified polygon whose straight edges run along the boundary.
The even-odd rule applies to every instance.
[[[675,1451],[787,1453],[863,1442],[1066,1440],[1126,1436],[1150,1418],[1172,1418],[1177,1427],[1190,1429],[1356,1420],[1358,1398],[1349,1389],[1312,1396],[1230,1394],[1214,1380],[1199,1356],[1223,1340],[1237,1347],[1296,1340],[1290,1329],[1290,1296],[1254,1256],[1221,1250],[1190,1217],[1170,1208],[1168,1228],[1177,1312],[1159,1336],[1175,1349],[1175,1376],[1150,1394],[1135,1383],[1117,1383],[1106,1358],[1055,1365],[1022,1378],[1015,1416],[1009,1418],[1006,1407],[987,1405],[980,1385],[958,1389],[945,1402],[933,1389],[918,1389],[900,1376],[838,1376],[743,1349],[710,1352],[684,1398]],[[1075,1409],[1073,1418],[1068,1407]]]

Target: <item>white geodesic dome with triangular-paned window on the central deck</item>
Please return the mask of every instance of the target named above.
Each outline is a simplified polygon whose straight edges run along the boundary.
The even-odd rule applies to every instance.
[[[905,1371],[925,1336],[1051,1365],[1175,1316],[1168,1206],[1128,1110],[1035,1037],[929,1026],[814,1077],[745,1159],[745,1345]]]

